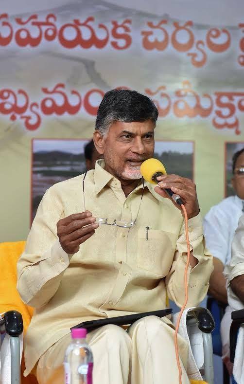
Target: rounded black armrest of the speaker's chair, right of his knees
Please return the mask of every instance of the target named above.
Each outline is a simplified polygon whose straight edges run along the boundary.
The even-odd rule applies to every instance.
[[[196,319],[198,328],[204,333],[210,333],[215,328],[211,312],[207,308],[195,307],[187,312],[187,320]]]

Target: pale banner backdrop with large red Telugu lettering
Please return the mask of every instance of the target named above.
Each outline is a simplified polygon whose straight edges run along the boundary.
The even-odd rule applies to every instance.
[[[3,0],[0,12],[0,241],[27,237],[50,185],[42,176],[59,180],[51,158],[39,158],[38,170],[40,151],[62,143],[71,169],[62,177],[82,171],[97,107],[112,88],[157,104],[156,152],[168,173],[184,171],[174,153],[186,142],[185,174],[194,163],[203,215],[231,193],[226,161],[229,169],[232,149],[244,144],[242,0]]]

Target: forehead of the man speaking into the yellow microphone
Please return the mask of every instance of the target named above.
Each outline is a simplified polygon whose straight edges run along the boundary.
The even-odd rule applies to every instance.
[[[154,123],[152,120],[146,120],[143,122],[133,121],[129,123],[123,123],[122,121],[116,121],[109,128],[109,133],[119,134],[122,131],[128,131],[136,135],[141,135],[146,132],[154,131]]]

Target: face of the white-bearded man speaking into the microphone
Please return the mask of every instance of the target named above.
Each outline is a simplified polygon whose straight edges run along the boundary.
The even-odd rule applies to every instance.
[[[112,124],[105,136],[93,135],[97,150],[104,155],[105,169],[119,180],[141,178],[140,165],[154,154],[154,124],[145,122]]]

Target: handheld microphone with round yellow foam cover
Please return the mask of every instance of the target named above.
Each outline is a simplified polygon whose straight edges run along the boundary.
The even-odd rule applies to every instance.
[[[140,166],[140,173],[144,180],[148,183],[157,184],[157,177],[167,175],[164,165],[157,159],[147,159]],[[172,198],[177,204],[183,204],[180,196],[174,193],[170,188],[164,188],[167,195]]]

